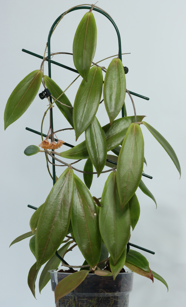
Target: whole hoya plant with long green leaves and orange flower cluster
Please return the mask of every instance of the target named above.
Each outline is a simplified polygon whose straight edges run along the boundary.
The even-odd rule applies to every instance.
[[[60,15],[50,30],[50,36],[65,14],[79,7],[76,6]],[[121,61],[121,44],[119,44],[119,54],[109,57],[113,59],[107,68],[98,65],[105,59],[93,62],[97,27],[92,10],[105,14],[114,25],[115,23],[102,9],[95,5],[90,7],[83,7],[88,8],[89,11],[77,27],[73,40],[73,53],[50,53],[49,39],[40,68],[20,81],[7,101],[4,114],[6,129],[24,114],[38,94],[41,83],[43,84],[44,91],[39,94],[39,97],[48,99],[50,105],[43,115],[41,132],[32,130],[41,135],[41,143],[39,146],[37,143],[28,146],[24,154],[43,155],[43,159],[46,159],[46,172],[48,170],[54,185],[51,190],[48,190],[48,196],[39,208],[31,206],[36,209],[30,220],[31,231],[16,238],[11,245],[31,237],[29,247],[36,262],[28,273],[28,286],[34,297],[35,280],[41,266],[45,265],[39,278],[39,292],[50,280],[48,270],[56,270],[60,262],[67,268],[64,272],[72,273],[56,286],[55,301],[72,292],[87,274],[113,276],[115,280],[120,272],[125,272],[124,266],[150,278],[152,282],[153,278],[157,278],[168,290],[166,281],[150,269],[148,260],[140,252],[129,249],[130,231],[134,231],[140,216],[140,204],[135,194],[137,188],[139,187],[144,194],[151,197],[156,204],[154,196],[141,179],[144,175],[143,164],[146,163],[141,125],[145,126],[162,145],[181,174],[180,164],[176,153],[166,139],[149,123],[143,121],[144,115],[136,115],[132,96],[126,89],[126,69]],[[47,47],[48,56],[45,56]],[[76,70],[73,68],[70,70],[78,73],[76,79],[65,91],[50,78],[50,57],[61,53],[73,56]],[[48,61],[49,76],[43,73],[45,61]],[[72,106],[65,92],[79,77],[82,81]],[[96,117],[99,104],[102,102],[102,93],[102,101],[108,114],[108,124],[105,126],[102,126]],[[126,93],[132,101],[133,116],[127,116]],[[58,131],[74,129],[76,139],[72,138],[73,144],[84,133],[83,142],[72,146],[65,141],[65,134],[64,141],[58,139],[58,131],[53,130],[54,103],[61,111],[61,117],[65,116],[70,125],[65,128],[59,127]],[[116,119],[121,111],[122,117]],[[43,121],[47,112],[50,112],[49,130],[47,135],[44,135]],[[60,150],[56,151],[64,145],[71,148],[61,153]],[[107,154],[109,151],[112,151],[113,155]],[[77,161],[69,164],[65,159]],[[84,169],[79,169],[78,164],[74,167],[74,163],[82,159],[85,161]],[[48,163],[53,166],[53,174],[50,173]],[[65,166],[65,170],[57,178],[55,166],[59,165]],[[110,169],[105,169],[105,166],[109,166]],[[83,173],[84,182],[74,173],[74,170],[77,171],[76,173]],[[102,176],[102,173],[108,173],[108,178],[103,183],[102,196],[93,196],[89,191],[92,178]],[[80,266],[68,264],[68,257],[65,257],[68,251],[76,246],[85,259]],[[80,270],[74,270],[74,268],[80,268]]]

